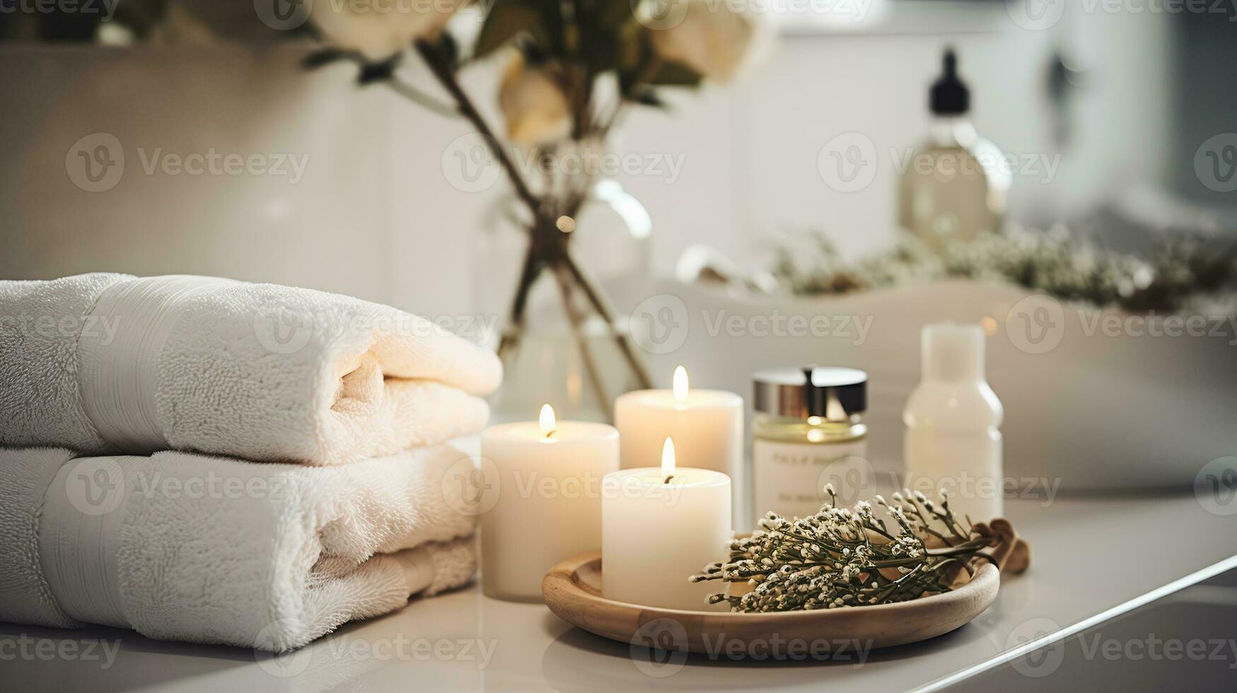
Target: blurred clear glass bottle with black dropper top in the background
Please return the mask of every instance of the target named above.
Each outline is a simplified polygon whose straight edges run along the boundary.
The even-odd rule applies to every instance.
[[[970,100],[957,58],[948,50],[944,73],[930,92],[928,142],[905,162],[898,196],[898,223],[938,251],[999,231],[1012,182],[1001,150],[971,124]]]

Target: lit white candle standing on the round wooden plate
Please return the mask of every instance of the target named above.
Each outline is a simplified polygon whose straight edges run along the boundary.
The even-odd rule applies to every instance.
[[[606,475],[601,594],[646,606],[724,611],[725,603],[706,603],[709,594],[720,590],[717,583],[690,583],[688,578],[727,556],[734,538],[730,476],[677,467],[675,449],[666,438],[659,467]]]

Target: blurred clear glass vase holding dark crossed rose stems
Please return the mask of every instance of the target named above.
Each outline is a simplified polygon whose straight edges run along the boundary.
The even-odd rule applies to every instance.
[[[627,322],[604,314],[605,285],[647,271],[651,226],[612,179],[594,183],[574,218],[541,235],[515,196],[487,210],[474,296],[501,325],[506,377],[494,421],[534,420],[549,403],[563,420],[610,422],[615,397],[651,386]]]

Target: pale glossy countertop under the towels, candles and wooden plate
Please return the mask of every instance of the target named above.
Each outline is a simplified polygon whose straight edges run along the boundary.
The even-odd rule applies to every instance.
[[[1147,689],[1155,682],[1119,677],[1143,676],[1148,661],[1155,671],[1184,672],[1176,676],[1237,681],[1237,646],[1210,642],[1215,624],[1231,630],[1237,622],[1237,587],[1228,587],[1237,582],[1223,575],[1237,567],[1237,497],[1022,499],[1008,501],[1006,515],[1032,544],[1027,574],[1007,578],[996,603],[961,629],[889,650],[841,647],[821,634],[814,644],[771,639],[746,653],[667,653],[597,637],[541,604],[497,601],[471,587],[349,624],[277,658],[108,627],[0,624],[0,688],[1029,691],[1072,689],[1100,672],[1106,687]],[[1191,642],[1197,639],[1207,639],[1202,648]]]

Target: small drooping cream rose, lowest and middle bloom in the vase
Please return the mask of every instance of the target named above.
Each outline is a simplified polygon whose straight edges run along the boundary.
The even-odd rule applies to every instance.
[[[499,108],[507,120],[507,137],[516,144],[544,145],[571,132],[571,111],[563,90],[546,68],[529,68],[518,52],[502,74]]]

